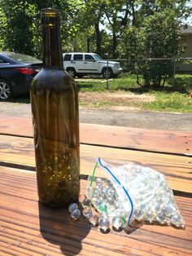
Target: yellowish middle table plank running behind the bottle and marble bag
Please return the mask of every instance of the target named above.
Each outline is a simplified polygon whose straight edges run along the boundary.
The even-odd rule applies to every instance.
[[[123,165],[133,161],[143,166],[150,166],[166,175],[172,189],[192,192],[191,157],[81,144],[81,174],[92,174],[94,157],[102,157],[104,161],[113,165]],[[8,165],[35,167],[33,139],[0,135],[0,161]],[[103,176],[99,169],[97,174]]]

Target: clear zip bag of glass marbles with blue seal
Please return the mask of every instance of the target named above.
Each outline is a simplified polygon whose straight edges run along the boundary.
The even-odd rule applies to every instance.
[[[105,178],[97,177],[98,168]],[[124,228],[133,221],[185,227],[164,174],[150,167],[111,166],[98,158],[88,182],[87,196],[95,210],[109,220],[121,219]]]

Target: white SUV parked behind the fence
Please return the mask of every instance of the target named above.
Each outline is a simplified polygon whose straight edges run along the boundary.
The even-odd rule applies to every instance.
[[[63,65],[72,77],[83,77],[87,74],[103,75],[104,78],[117,77],[122,71],[120,63],[103,60],[95,53],[68,52],[63,53]]]

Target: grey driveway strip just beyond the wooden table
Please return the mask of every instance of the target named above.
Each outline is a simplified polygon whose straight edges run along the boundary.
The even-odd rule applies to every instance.
[[[5,115],[32,117],[30,104],[0,102],[0,110]],[[128,108],[80,108],[80,121],[110,126],[192,132],[192,113],[159,113]]]

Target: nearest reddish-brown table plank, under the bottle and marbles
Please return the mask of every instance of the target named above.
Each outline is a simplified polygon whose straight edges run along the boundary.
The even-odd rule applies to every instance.
[[[185,230],[142,225],[103,234],[68,210],[38,204],[36,174],[0,167],[0,255],[191,255],[192,199],[176,196]],[[2,186],[3,185],[3,186]],[[85,192],[81,181],[81,193]]]

